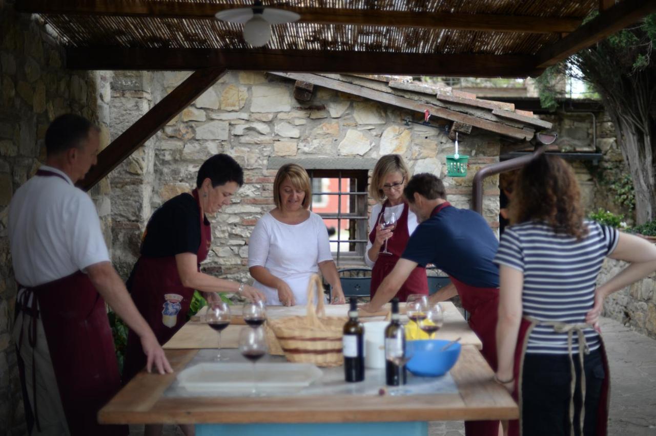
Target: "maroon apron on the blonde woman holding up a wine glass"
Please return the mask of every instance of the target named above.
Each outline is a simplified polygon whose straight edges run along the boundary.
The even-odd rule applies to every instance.
[[[371,232],[369,233],[369,240],[372,244],[376,240],[376,230],[378,223],[380,222],[380,216],[382,213],[384,213],[386,207],[387,202],[382,205],[382,209],[380,209],[380,213],[376,219],[377,224],[374,226],[374,228],[371,229]],[[382,283],[382,280],[384,280],[384,278],[386,278],[386,276],[390,274],[390,272],[392,272],[394,269],[394,266],[401,258],[401,255],[405,250],[405,246],[410,239],[410,235],[408,233],[408,209],[409,208],[407,203],[404,203],[403,212],[401,212],[401,216],[399,217],[398,221],[396,221],[394,234],[392,234],[392,238],[387,240],[387,251],[392,254],[379,254],[378,259],[376,259],[376,262],[373,264],[373,270],[371,270],[371,285],[369,287],[369,296],[371,299],[373,299],[373,296],[376,295],[376,291],[378,290],[380,283]],[[410,294],[428,295],[426,268],[417,266],[417,268],[415,268],[410,273],[403,285],[401,285],[401,289],[399,289],[396,293],[396,297],[400,302],[405,302],[408,295]]]

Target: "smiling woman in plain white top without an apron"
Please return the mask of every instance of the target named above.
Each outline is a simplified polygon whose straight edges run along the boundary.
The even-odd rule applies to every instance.
[[[282,166],[274,180],[276,208],[258,220],[249,239],[249,272],[266,304],[306,304],[310,276],[319,270],[333,287],[333,302],[345,302],[327,229],[323,219],[309,210],[310,186],[301,166]]]

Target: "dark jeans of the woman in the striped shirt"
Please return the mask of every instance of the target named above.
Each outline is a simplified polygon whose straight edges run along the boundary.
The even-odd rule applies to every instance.
[[[574,392],[574,434],[581,436],[581,365],[579,356],[572,355],[576,369]],[[571,382],[567,355],[526,354],[522,380],[522,426],[527,436],[569,435],[569,383]],[[594,436],[597,427],[602,382],[605,378],[604,363],[600,350],[586,355],[584,436]]]

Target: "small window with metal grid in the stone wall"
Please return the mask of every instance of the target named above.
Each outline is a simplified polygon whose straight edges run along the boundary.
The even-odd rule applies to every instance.
[[[360,263],[367,246],[367,170],[308,170],[308,174],[310,209],[323,218],[337,266]]]

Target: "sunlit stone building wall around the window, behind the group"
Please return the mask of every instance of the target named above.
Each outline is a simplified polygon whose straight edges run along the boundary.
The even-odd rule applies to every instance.
[[[148,83],[150,93],[160,86],[161,95],[171,92],[186,77],[188,73],[154,73]],[[150,143],[142,147],[136,157],[139,164],[123,164],[125,189],[112,173],[115,263],[131,266],[138,256],[138,236],[150,216],[146,211],[154,211],[165,200],[190,191],[200,164],[216,153],[236,158],[245,170],[245,185],[233,203],[212,218],[213,250],[203,268],[239,279],[248,276],[248,238],[253,226],[274,207],[276,170],[268,169],[268,160],[274,156],[302,162],[304,158],[378,158],[400,153],[413,173],[430,172],[443,177],[449,200],[464,208],[470,207],[474,173],[499,158],[499,136],[474,129],[474,134],[460,136],[461,154],[472,156],[467,177],[445,177],[445,156],[453,154],[454,145],[443,130],[417,124],[405,126],[403,118],[412,113],[325,88],[315,88],[312,100],[300,103],[293,98],[293,89],[293,81],[272,75],[228,73],[171,120],[155,136],[152,149]],[[120,98],[124,100],[119,103]],[[134,105],[139,110],[147,107],[144,99],[148,104],[157,101],[152,95],[119,95],[113,86],[112,121],[117,119],[115,111],[121,108],[130,112],[127,118],[136,118],[138,114],[127,109]],[[112,126],[112,136],[114,130],[122,128]],[[498,226],[499,212],[497,183],[497,177],[485,181],[484,213],[494,228]],[[125,235],[121,236],[124,229]],[[129,268],[120,271],[125,277]]]

